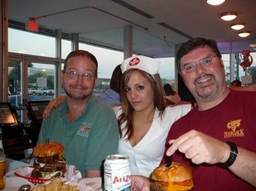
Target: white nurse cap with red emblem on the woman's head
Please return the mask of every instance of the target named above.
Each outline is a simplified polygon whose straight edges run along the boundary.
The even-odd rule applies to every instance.
[[[132,56],[123,61],[121,64],[122,73],[132,68],[138,68],[151,75],[158,73],[159,59],[153,59],[147,56]]]

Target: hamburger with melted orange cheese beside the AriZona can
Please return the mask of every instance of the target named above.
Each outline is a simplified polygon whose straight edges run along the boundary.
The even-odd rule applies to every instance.
[[[184,164],[172,162],[170,167],[160,165],[152,172],[152,191],[188,191],[194,187],[191,169]]]

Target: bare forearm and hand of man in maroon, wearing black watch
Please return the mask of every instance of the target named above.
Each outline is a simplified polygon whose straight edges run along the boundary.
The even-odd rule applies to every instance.
[[[196,130],[191,130],[181,135],[178,139],[169,141],[172,144],[166,155],[173,155],[179,149],[186,158],[190,158],[194,164],[218,164],[228,160],[230,147],[226,142],[220,141]],[[198,149],[199,148],[199,149]],[[256,153],[248,149],[238,147],[238,155],[230,171],[256,187]]]

